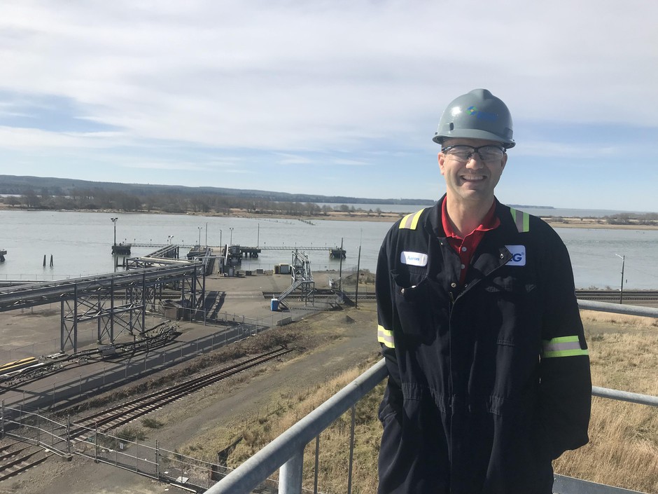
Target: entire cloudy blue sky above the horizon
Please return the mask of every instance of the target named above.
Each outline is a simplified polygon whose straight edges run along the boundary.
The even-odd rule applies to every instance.
[[[3,0],[0,174],[437,199],[458,95],[504,203],[658,212],[658,2]]]

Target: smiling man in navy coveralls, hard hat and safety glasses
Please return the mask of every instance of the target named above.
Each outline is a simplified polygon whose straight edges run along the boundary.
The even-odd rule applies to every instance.
[[[379,493],[550,494],[591,402],[568,252],[493,195],[515,144],[501,100],[456,98],[433,140],[446,194],[394,224],[377,263]]]

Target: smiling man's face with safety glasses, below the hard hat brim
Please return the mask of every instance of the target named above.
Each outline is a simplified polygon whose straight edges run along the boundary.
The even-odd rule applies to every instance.
[[[449,146],[477,148],[486,145],[502,147],[498,142],[484,139],[448,139],[443,143],[442,148]],[[468,160],[464,160],[463,151],[468,152],[468,148],[454,148],[439,153],[439,167],[445,179],[448,197],[463,204],[473,202],[490,204],[493,201],[493,188],[498,184],[507,163],[507,153],[493,160],[482,160],[478,153],[472,153]],[[481,153],[487,158],[486,149]],[[495,156],[495,153],[493,154]]]

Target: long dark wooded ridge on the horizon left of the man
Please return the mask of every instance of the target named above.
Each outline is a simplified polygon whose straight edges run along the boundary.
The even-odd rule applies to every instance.
[[[0,194],[24,195],[32,192],[40,195],[73,195],[81,191],[129,193],[140,195],[223,195],[236,198],[253,198],[286,203],[336,203],[336,204],[401,204],[432,205],[427,199],[369,199],[347,197],[343,195],[290,194],[286,192],[256,191],[242,188],[224,187],[186,187],[179,185],[120,184],[76,179],[57,179],[54,177],[19,177],[0,175]]]

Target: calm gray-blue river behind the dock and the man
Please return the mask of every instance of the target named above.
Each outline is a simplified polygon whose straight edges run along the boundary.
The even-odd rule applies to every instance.
[[[566,216],[562,210],[552,211],[554,216]],[[582,212],[582,216],[587,216],[587,210]],[[325,247],[326,250],[308,252],[311,268],[336,271],[339,261],[329,258],[328,249],[339,247],[342,242],[347,252],[343,270],[356,268],[360,246],[360,267],[374,272],[381,239],[391,226],[379,221],[312,219],[307,224],[294,219],[186,214],[4,210],[0,211],[0,249],[8,254],[6,261],[0,263],[0,280],[61,280],[111,272],[114,269],[112,217],[118,218],[117,242],[172,241],[193,245],[200,241],[210,246],[232,242],[260,247]],[[593,228],[556,228],[556,231],[568,247],[578,288],[619,288],[622,270],[619,255],[625,256],[624,288],[658,289],[658,231]],[[132,256],[143,256],[153,250],[153,247],[133,247]],[[265,250],[258,259],[245,259],[242,269],[272,269],[274,264],[289,263],[291,259],[290,249]]]

